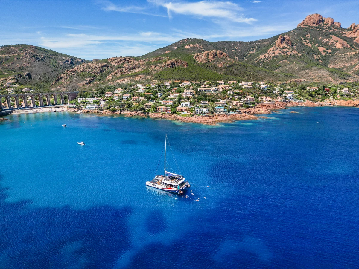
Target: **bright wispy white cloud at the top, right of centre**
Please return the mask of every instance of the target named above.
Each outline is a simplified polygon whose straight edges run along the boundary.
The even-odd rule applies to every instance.
[[[223,20],[230,20],[232,22],[251,23],[255,21],[254,18],[246,18],[241,14],[243,9],[232,2],[224,1],[199,1],[199,2],[167,2],[162,0],[147,0],[157,6],[162,6],[167,9],[169,18],[172,13],[181,15],[192,15],[197,18],[216,18]]]

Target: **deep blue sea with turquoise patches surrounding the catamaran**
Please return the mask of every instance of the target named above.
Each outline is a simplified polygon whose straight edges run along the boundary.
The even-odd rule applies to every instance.
[[[6,116],[0,268],[358,267],[359,109],[266,116]],[[165,134],[189,198],[145,186]]]

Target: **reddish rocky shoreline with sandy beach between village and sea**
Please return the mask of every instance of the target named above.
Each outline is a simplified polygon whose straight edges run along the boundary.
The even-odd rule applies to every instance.
[[[258,104],[253,108],[242,109],[242,114],[207,114],[207,115],[194,115],[192,117],[183,117],[178,114],[162,114],[162,113],[144,113],[144,112],[111,112],[108,110],[99,111],[99,110],[89,110],[89,109],[80,109],[79,107],[70,107],[68,105],[53,106],[53,107],[41,107],[41,108],[30,108],[15,110],[12,114],[33,114],[33,113],[42,113],[42,112],[77,112],[77,113],[93,113],[97,115],[116,115],[121,114],[126,117],[132,116],[141,116],[149,117],[152,119],[169,119],[173,121],[181,121],[187,123],[199,123],[205,125],[216,125],[221,122],[234,122],[234,121],[246,121],[259,118],[266,118],[263,116],[258,116],[262,114],[271,114],[276,110],[287,109],[290,107],[359,107],[359,100],[339,100],[333,103],[314,103],[314,102],[275,102],[274,104]],[[293,113],[293,112],[291,112]]]

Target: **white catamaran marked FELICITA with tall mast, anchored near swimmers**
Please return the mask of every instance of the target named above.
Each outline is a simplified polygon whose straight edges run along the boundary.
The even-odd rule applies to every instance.
[[[150,187],[154,187],[156,189],[165,190],[167,192],[183,194],[183,190],[187,187],[188,188],[191,187],[191,185],[190,183],[188,183],[188,181],[186,181],[186,179],[182,175],[171,173],[166,170],[166,149],[167,149],[167,135],[164,142],[164,175],[156,175],[151,181],[146,181],[146,185]],[[178,166],[177,169],[179,170]]]

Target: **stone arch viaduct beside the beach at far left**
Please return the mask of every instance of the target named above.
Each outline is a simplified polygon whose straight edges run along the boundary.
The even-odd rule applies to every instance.
[[[12,110],[12,109],[20,109],[20,101],[22,99],[24,104],[27,104],[27,100],[31,99],[31,107],[35,107],[35,99],[39,98],[39,107],[44,107],[50,105],[50,98],[53,97],[54,104],[65,104],[65,96],[67,96],[67,103],[74,100],[77,97],[78,91],[70,91],[70,92],[60,92],[60,93],[21,93],[21,94],[6,94],[0,95],[0,111],[2,110]],[[60,96],[60,102],[57,102],[57,98]],[[46,104],[44,104],[43,98],[46,99]],[[6,107],[4,107],[3,102],[1,100],[5,98]],[[11,98],[15,99],[15,108],[11,108]],[[26,107],[25,107],[26,108]]]

